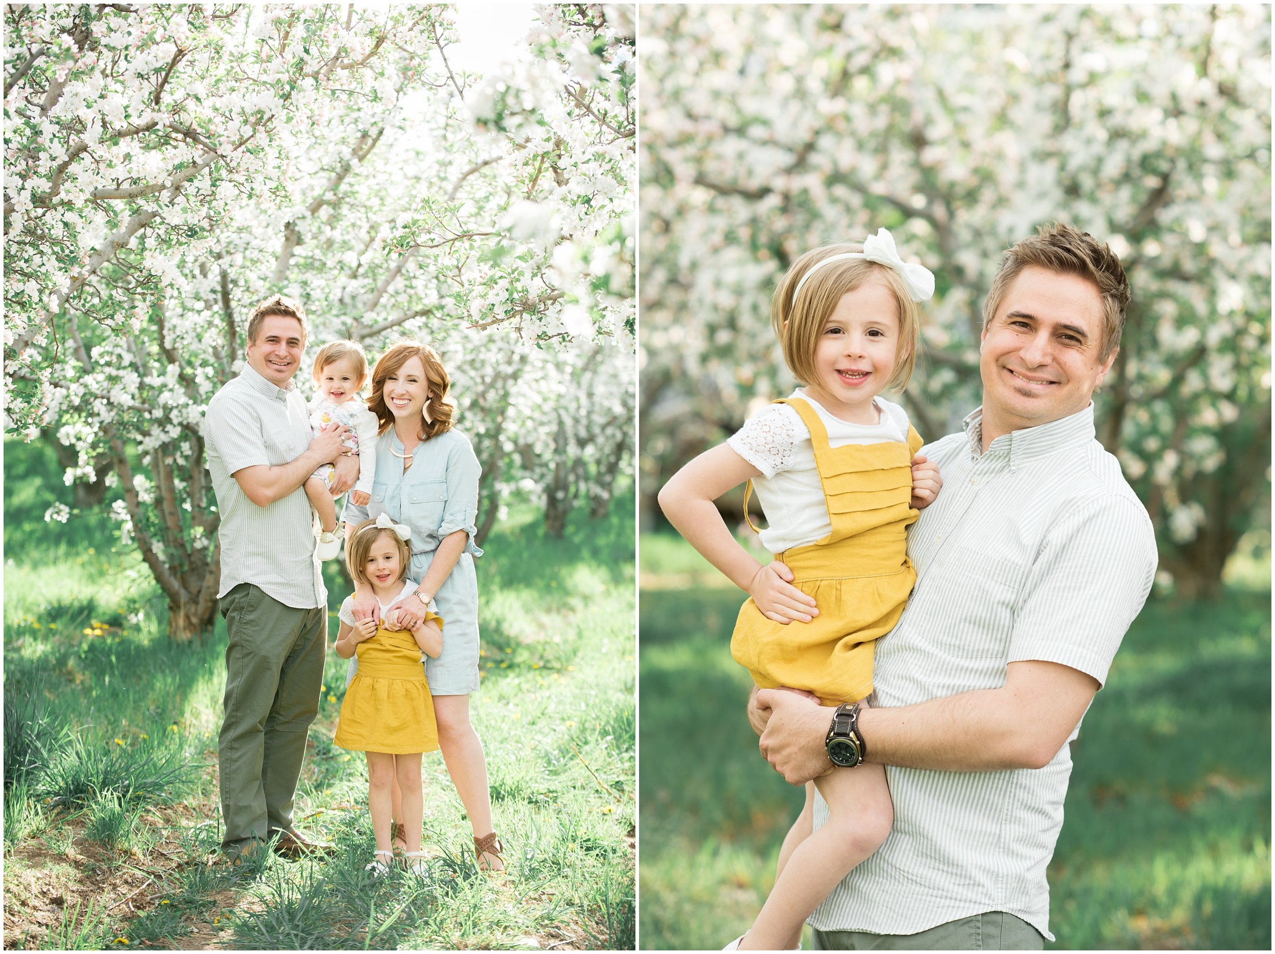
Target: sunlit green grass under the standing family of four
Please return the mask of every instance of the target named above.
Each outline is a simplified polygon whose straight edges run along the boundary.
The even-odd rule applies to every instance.
[[[632,948],[632,533],[621,497],[604,520],[574,517],[564,539],[529,506],[487,539],[472,712],[509,874],[477,870],[435,752],[430,871],[376,881],[366,763],[332,744],[344,659],[328,658],[295,811],[337,853],[210,869],[198,862],[219,843],[224,624],[194,643],[161,635],[145,568],[97,524],[73,518],[38,552],[19,534],[5,561],[6,749],[11,710],[17,749],[37,758],[5,792],[5,946]],[[333,564],[328,583],[334,636]],[[91,898],[92,914],[75,909]]]

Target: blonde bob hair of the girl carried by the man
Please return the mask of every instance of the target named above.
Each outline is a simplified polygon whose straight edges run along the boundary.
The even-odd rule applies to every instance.
[[[793,298],[793,291],[801,284],[802,277],[811,267],[830,255],[848,251],[863,251],[859,244],[824,245],[812,249],[798,258],[784,277],[779,279],[774,297],[770,300],[770,324],[783,347],[784,363],[802,384],[817,384],[815,371],[815,349],[824,334],[829,316],[836,309],[841,296],[853,292],[872,278],[878,279],[894,292],[899,306],[899,348],[894,356],[894,370],[886,381],[885,390],[901,390],[912,380],[917,365],[917,335],[921,328],[921,312],[903,284],[899,273],[889,265],[866,259],[843,259],[820,268],[802,284],[801,292]]]

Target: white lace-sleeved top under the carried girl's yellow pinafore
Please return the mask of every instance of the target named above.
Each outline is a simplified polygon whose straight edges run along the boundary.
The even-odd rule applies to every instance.
[[[873,399],[880,412],[875,425],[849,423],[834,417],[801,388],[789,397],[802,398],[815,408],[827,429],[827,443],[834,448],[908,443],[908,412],[880,397]],[[770,404],[745,421],[727,444],[762,473],[752,486],[766,515],[768,527],[761,531],[761,545],[766,550],[778,554],[813,543],[833,532],[810,431],[796,411],[787,404]]]

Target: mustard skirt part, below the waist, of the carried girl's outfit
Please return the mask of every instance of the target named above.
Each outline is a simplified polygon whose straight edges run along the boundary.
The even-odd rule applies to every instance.
[[[819,616],[783,625],[751,597],[740,608],[731,654],[759,686],[803,689],[822,705],[872,693],[876,640],[899,622],[917,573],[901,552],[873,555],[864,542],[850,537],[775,555],[793,571],[793,585],[815,598]]]

